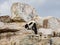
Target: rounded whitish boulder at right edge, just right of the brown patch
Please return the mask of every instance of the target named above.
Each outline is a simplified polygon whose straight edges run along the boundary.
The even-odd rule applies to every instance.
[[[44,20],[46,20],[47,24],[45,23],[44,25],[46,26],[46,28],[51,28],[54,30],[57,30],[58,28],[60,28],[60,23],[58,22],[57,18],[55,17],[50,17],[50,18],[45,18]]]

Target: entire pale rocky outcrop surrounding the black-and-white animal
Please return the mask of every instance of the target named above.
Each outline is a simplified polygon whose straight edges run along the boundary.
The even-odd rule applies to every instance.
[[[33,7],[23,3],[14,3],[11,12],[11,18],[0,17],[0,45],[60,45],[60,19],[42,18]],[[37,24],[37,35],[24,28],[31,20]]]

